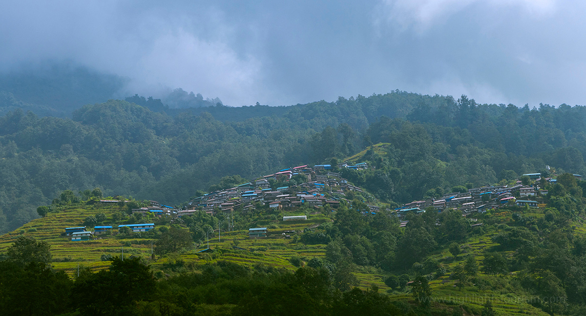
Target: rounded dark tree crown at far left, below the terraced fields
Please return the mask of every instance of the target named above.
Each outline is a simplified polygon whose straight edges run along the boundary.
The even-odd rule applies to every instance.
[[[28,236],[18,236],[16,241],[8,248],[7,257],[9,261],[25,266],[29,263],[40,263],[50,266],[51,246],[44,240],[37,241]]]

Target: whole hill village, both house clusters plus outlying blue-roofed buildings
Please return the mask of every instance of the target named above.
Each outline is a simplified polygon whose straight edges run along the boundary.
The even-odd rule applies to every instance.
[[[368,169],[366,162],[356,165],[347,163],[339,164],[340,168],[350,168],[355,170]],[[364,191],[352,184],[345,178],[342,178],[339,172],[334,172],[332,165],[302,165],[294,168],[282,169],[275,174],[265,175],[246,184],[241,184],[234,188],[224,189],[207,193],[198,198],[192,199],[182,209],[175,209],[171,206],[162,205],[156,201],[149,201],[149,206],[132,209],[132,213],[148,214],[155,216],[167,216],[172,219],[181,218],[182,216],[192,215],[196,212],[206,212],[209,215],[216,215],[219,212],[250,212],[261,206],[268,206],[269,209],[279,209],[294,211],[301,207],[321,210],[331,210],[338,208],[340,203],[352,203],[346,199],[349,192]],[[368,209],[357,210],[364,216],[376,214],[380,210],[388,212],[390,216],[396,216],[400,222],[400,227],[407,225],[405,216],[413,212],[419,214],[426,210],[437,210],[442,212],[445,209],[461,210],[462,216],[471,218],[476,212],[486,212],[489,209],[499,209],[504,206],[521,206],[527,208],[537,208],[540,205],[541,195],[547,195],[547,190],[541,188],[544,182],[554,183],[555,178],[541,178],[541,174],[524,174],[531,179],[530,184],[523,185],[522,181],[517,180],[515,185],[502,186],[482,186],[480,188],[471,188],[466,192],[450,192],[442,195],[440,198],[427,198],[421,201],[413,201],[401,205],[399,208],[389,209],[380,205],[367,204]],[[581,175],[574,175],[581,179]],[[271,188],[272,183],[287,183],[294,178],[305,179],[302,184],[280,186]],[[115,199],[102,199],[100,203],[119,203]],[[306,216],[284,216],[283,220],[303,220]],[[472,218],[471,218],[472,220]],[[482,225],[482,223],[473,224],[472,226]],[[118,225],[118,232],[122,227],[127,227],[132,232],[148,232],[155,229],[154,223],[140,223],[130,225]],[[109,233],[114,230],[113,226],[94,226],[93,231],[90,227],[68,227],[64,235],[69,236],[71,241],[92,240],[94,236]],[[248,236],[251,238],[267,237],[268,229],[266,227],[251,228]]]

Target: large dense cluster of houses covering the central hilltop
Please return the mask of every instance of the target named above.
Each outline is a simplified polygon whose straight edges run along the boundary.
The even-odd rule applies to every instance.
[[[341,168],[366,169],[368,165],[362,162],[356,165],[341,164]],[[265,205],[275,209],[294,209],[301,206],[319,208],[329,205],[338,208],[346,190],[362,192],[362,189],[353,186],[338,172],[332,171],[331,165],[302,165],[294,168],[282,169],[275,174],[265,175],[246,184],[223,191],[215,191],[200,196],[188,202],[188,208],[178,210],[177,216],[190,215],[199,210],[214,215],[217,212],[249,212],[258,205]],[[294,176],[302,175],[306,182],[299,185],[281,186],[272,189],[270,180],[287,181]],[[329,198],[326,198],[326,193]],[[347,200],[346,200],[347,201]],[[372,209],[379,209],[372,206]]]

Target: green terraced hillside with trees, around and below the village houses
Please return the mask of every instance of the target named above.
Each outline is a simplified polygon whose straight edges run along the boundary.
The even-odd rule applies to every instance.
[[[384,146],[379,144],[372,150],[377,151],[377,148]],[[363,154],[359,154],[346,161],[362,158]],[[363,174],[376,172],[373,169],[353,170],[350,167],[343,168]],[[346,186],[344,190],[338,191],[340,186],[331,181],[344,183],[344,179],[322,168],[301,166],[291,169],[303,169],[311,178],[328,177],[329,185],[321,191],[312,189],[314,193],[322,192],[320,194],[326,197],[335,198],[332,194],[339,192],[336,194],[352,197],[353,201],[339,199],[341,204],[337,209],[331,209],[328,203],[311,208],[293,206],[273,209],[269,207],[272,200],[264,195],[265,205],[257,202],[247,204],[246,201],[234,205],[234,202],[242,201],[250,192],[261,192],[260,188],[266,183],[267,177],[228,189],[221,187],[235,180],[223,179],[218,184],[219,190],[202,196],[207,197],[207,202],[194,199],[184,209],[178,210],[176,215],[180,215],[180,219],[173,215],[171,209],[166,211],[168,215],[159,218],[151,210],[160,206],[143,206],[142,209],[135,209],[139,212],[130,217],[123,215],[134,207],[130,206],[131,202],[139,206],[142,203],[140,201],[57,201],[46,217],[33,220],[1,236],[0,253],[8,249],[16,237],[23,235],[47,241],[52,249],[54,269],[64,270],[71,276],[76,276],[78,266],[81,271],[87,271],[87,268],[94,271],[108,269],[111,262],[103,259],[103,256],[120,256],[124,247],[125,258],[136,256],[145,260],[161,284],[175,280],[175,277],[189,277],[190,273],[205,273],[210,265],[226,267],[226,264],[237,264],[250,271],[282,268],[292,272],[300,266],[306,269],[326,267],[331,275],[332,286],[338,290],[350,293],[350,288],[357,286],[363,293],[370,293],[371,289],[377,288],[390,302],[394,302],[391,304],[403,308],[404,312],[413,309],[415,313],[428,310],[434,314],[459,312],[462,315],[480,315],[486,308],[486,301],[490,300],[492,308],[502,315],[546,315],[547,312],[558,314],[561,311],[565,314],[580,313],[583,299],[581,293],[584,289],[580,282],[586,276],[580,264],[586,254],[586,248],[583,247],[586,226],[581,212],[584,205],[582,186],[585,182],[577,181],[573,175],[559,175],[557,183],[541,180],[532,182],[528,177],[522,178],[523,182],[529,181],[527,188],[540,186],[550,192],[534,197],[539,206],[505,203],[508,198],[500,193],[502,188],[491,186],[481,188],[480,191],[468,188],[468,191],[460,193],[474,198],[480,196],[481,192],[492,192],[491,195],[496,196],[495,201],[502,200],[497,207],[482,209],[478,205],[478,209],[471,211],[466,201],[462,201],[458,209],[445,208],[437,212],[431,206],[412,207],[427,203],[423,200],[406,203],[396,210],[386,209],[380,201],[371,201],[372,206],[368,206],[360,201],[368,193],[361,193],[358,191],[360,188],[354,186]],[[345,174],[345,169],[340,174]],[[268,175],[268,178],[277,174]],[[296,179],[295,176],[285,181],[271,179],[268,184],[271,188],[267,192],[273,192],[284,184],[289,184],[288,188],[306,188],[307,184],[316,183],[300,184],[295,182]],[[323,182],[326,178],[321,179]],[[259,186],[258,191],[247,192],[246,185],[252,184]],[[221,209],[218,204],[206,211],[203,205],[209,205],[223,193],[237,188],[244,188],[239,200],[229,199],[230,205],[223,203]],[[517,203],[524,201],[519,197],[519,190],[523,186],[513,182],[503,188],[509,188],[507,194],[517,196]],[[305,190],[305,193],[310,193],[308,189]],[[367,189],[362,188],[362,191],[366,192]],[[454,192],[447,196],[457,195],[458,192]],[[281,196],[281,199],[284,198]],[[306,199],[306,203],[311,201],[310,198]],[[435,207],[441,201],[445,202],[438,198],[432,199],[430,203]],[[490,203],[480,203],[486,205],[487,202]],[[257,209],[243,212],[246,205],[254,205]],[[379,209],[370,212],[372,208]],[[425,211],[416,212],[415,209]],[[403,210],[409,211],[404,213]],[[145,214],[141,215],[140,212]],[[206,212],[213,213],[213,216]],[[116,236],[81,242],[71,242],[67,237],[60,236],[64,228],[83,225],[88,216],[97,216],[99,213],[105,214],[100,225],[115,227],[122,223],[149,222],[154,223],[156,229],[142,233],[122,232]],[[292,215],[305,215],[307,220],[282,220],[282,216]],[[234,220],[234,225],[230,224],[230,218]],[[217,230],[212,232],[210,250],[201,252],[207,248],[203,230],[206,225],[219,227],[220,237],[217,236]],[[233,229],[230,229],[231,226]],[[268,227],[268,237],[250,239],[248,227]],[[161,241],[168,240],[165,236],[173,229],[175,233],[189,232],[189,244],[195,241],[196,248],[180,247],[178,252],[162,252],[161,249],[165,249],[166,245]],[[150,257],[151,242],[156,254],[154,260]],[[417,304],[413,300],[414,285],[422,277],[431,291],[431,295],[425,296],[426,300],[431,300],[428,305]],[[542,279],[543,284],[539,286]],[[550,300],[551,297],[555,297],[554,301]]]

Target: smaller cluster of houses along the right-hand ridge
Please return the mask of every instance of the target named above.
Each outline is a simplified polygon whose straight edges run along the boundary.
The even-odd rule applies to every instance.
[[[398,218],[404,218],[409,212],[421,213],[432,206],[438,211],[445,209],[459,209],[464,215],[473,212],[486,212],[488,209],[498,209],[507,205],[528,206],[536,208],[539,202],[535,199],[540,195],[547,195],[548,191],[539,187],[541,174],[524,174],[534,181],[534,185],[522,185],[517,181],[513,186],[482,186],[469,189],[467,192],[452,192],[438,199],[425,199],[413,201],[394,209]],[[581,179],[581,175],[574,175]],[[547,182],[554,183],[556,179],[544,178]]]

